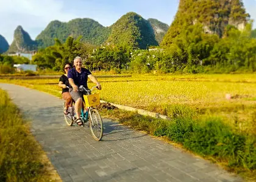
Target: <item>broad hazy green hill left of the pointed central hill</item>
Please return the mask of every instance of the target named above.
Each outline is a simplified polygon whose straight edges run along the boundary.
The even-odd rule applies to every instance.
[[[82,36],[81,41],[93,45],[103,44],[110,34],[110,28],[103,27],[97,21],[89,18],[77,18],[69,22],[52,21],[46,29],[37,36],[36,41],[40,48],[54,45],[54,39],[65,42],[69,36],[74,39]]]

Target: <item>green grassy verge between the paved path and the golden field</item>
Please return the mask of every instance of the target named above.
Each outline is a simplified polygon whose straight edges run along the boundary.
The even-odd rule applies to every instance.
[[[226,170],[243,176],[246,181],[256,180],[256,135],[233,130],[221,118],[194,120],[187,115],[166,121],[118,109],[100,109],[104,116],[114,117],[132,129],[181,144],[183,149],[221,164]]]

